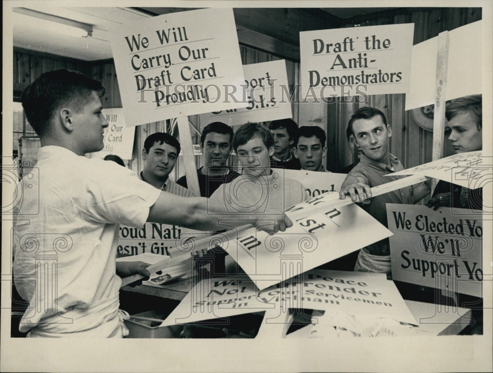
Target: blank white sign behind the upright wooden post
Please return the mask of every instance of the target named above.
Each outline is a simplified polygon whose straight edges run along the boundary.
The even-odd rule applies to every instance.
[[[449,40],[446,100],[480,94],[483,91],[482,21],[451,30]],[[438,36],[413,46],[406,110],[435,103],[437,48]]]

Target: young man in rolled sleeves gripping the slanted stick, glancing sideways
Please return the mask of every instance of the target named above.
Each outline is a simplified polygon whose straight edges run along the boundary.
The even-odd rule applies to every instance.
[[[371,187],[397,180],[397,176],[385,176],[403,170],[402,164],[389,152],[392,136],[385,114],[373,107],[362,107],[351,117],[348,133],[352,132],[355,145],[361,149],[359,163],[351,170],[342,184],[342,199],[350,195],[355,202],[387,227],[387,203],[412,204],[429,193],[427,184],[418,184],[371,198]],[[354,271],[387,273],[391,278],[388,238],[362,248]]]

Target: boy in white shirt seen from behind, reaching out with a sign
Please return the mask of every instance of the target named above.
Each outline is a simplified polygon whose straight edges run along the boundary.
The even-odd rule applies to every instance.
[[[15,286],[29,303],[19,330],[29,337],[128,334],[116,273],[149,272],[143,263],[116,264],[119,224],[216,230],[230,220],[219,203],[162,192],[127,168],[84,157],[104,147],[103,94],[101,82],[65,69],[42,74],[22,94],[41,142],[36,173],[21,181],[12,243]],[[252,214],[232,224],[250,222],[270,232],[292,225],[283,214]]]

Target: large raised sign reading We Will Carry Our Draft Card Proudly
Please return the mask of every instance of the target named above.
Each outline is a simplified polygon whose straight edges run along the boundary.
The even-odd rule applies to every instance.
[[[199,9],[125,24],[111,49],[127,126],[245,106],[232,9]]]

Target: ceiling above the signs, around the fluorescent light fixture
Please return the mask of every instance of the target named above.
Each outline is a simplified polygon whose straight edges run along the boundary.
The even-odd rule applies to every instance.
[[[93,25],[92,36],[77,38],[54,31],[40,30],[26,22],[13,26],[13,46],[70,57],[83,61],[112,58],[108,31],[122,24],[153,15],[190,10],[191,8],[123,7],[47,7],[41,2],[29,9]],[[371,17],[395,8],[235,8],[239,41],[242,44],[299,59],[299,32],[339,28],[352,19]],[[12,13],[16,16],[16,13]]]

